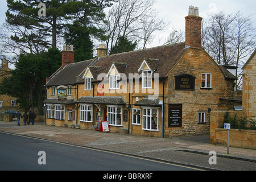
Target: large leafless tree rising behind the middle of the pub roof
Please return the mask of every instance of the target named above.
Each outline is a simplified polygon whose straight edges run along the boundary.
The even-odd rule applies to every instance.
[[[166,27],[163,20],[156,18],[152,9],[155,0],[120,0],[109,10],[106,18],[106,47],[111,52],[118,38],[128,38],[146,48],[154,38],[152,33]]]

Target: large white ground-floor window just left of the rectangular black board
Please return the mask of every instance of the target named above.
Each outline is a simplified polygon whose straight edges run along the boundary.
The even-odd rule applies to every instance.
[[[142,108],[142,129],[158,131],[158,107]]]

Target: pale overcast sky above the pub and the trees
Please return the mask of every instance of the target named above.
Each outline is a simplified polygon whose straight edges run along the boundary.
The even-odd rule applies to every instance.
[[[256,27],[255,0],[156,0],[155,9],[158,11],[158,17],[171,23],[166,32],[156,35],[155,42],[151,47],[159,46],[159,38],[167,38],[171,27],[185,31],[184,17],[188,15],[188,7],[191,5],[199,7],[199,15],[202,18],[207,18],[209,12],[219,10],[224,10],[228,14],[237,11],[241,11],[245,16],[253,14],[251,18],[254,21],[254,27]],[[5,22],[6,0],[0,0],[0,7],[0,23],[2,24]]]

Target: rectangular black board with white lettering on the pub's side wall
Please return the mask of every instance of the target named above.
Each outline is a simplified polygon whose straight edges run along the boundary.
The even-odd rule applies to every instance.
[[[182,126],[182,104],[169,104],[168,127]]]

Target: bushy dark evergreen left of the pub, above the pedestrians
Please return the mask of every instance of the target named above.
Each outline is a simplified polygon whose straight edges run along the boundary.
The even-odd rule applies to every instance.
[[[5,77],[0,83],[0,93],[18,98],[17,103],[24,110],[37,106],[39,114],[42,114],[46,77],[51,76],[60,65],[61,52],[56,48],[37,55],[20,55],[16,69],[11,71],[12,76]]]

